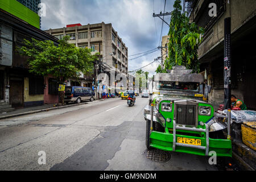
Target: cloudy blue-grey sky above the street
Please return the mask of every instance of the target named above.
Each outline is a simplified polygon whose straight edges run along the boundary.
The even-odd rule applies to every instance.
[[[67,24],[112,23],[122,41],[134,55],[158,47],[162,20],[152,17],[164,11],[164,0],[42,0],[46,4],[46,16],[42,17],[42,30],[61,28]],[[166,1],[166,11],[173,10],[174,0]],[[169,23],[170,16],[164,17]],[[163,23],[162,36],[168,34],[168,25]],[[160,56],[160,51],[138,59],[129,60],[129,71],[141,68]],[[133,57],[129,57],[132,59]],[[160,60],[159,60],[160,61]],[[154,74],[158,62],[143,68]]]

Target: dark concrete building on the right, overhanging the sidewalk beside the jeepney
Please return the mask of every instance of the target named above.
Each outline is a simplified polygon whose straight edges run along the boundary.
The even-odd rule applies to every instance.
[[[216,5],[216,14],[209,15]],[[199,45],[201,71],[207,70],[212,86],[209,102],[214,107],[224,102],[224,19],[231,19],[231,93],[243,100],[248,109],[256,110],[255,0],[185,0],[184,10],[191,22],[205,29]],[[212,12],[212,11],[211,11]]]

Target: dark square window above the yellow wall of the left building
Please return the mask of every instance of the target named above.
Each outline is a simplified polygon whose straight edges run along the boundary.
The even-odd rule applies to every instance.
[[[28,84],[30,95],[44,94],[44,78],[30,77]]]

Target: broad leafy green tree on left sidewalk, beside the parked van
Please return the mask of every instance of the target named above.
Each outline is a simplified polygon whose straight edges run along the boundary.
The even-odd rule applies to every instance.
[[[93,72],[93,61],[88,48],[77,48],[68,43],[69,37],[59,40],[59,45],[50,40],[24,40],[23,47],[17,47],[22,55],[29,56],[27,64],[29,71],[35,75],[53,77],[63,84],[68,78],[79,78],[81,73]],[[64,92],[60,92],[61,103],[64,104]]]

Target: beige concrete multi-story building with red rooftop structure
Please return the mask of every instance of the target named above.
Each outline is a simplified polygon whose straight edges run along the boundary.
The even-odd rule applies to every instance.
[[[110,73],[110,69],[117,73],[128,76],[128,48],[114,30],[112,24],[96,23],[82,26],[69,24],[64,28],[46,30],[49,34],[58,39],[63,36],[70,36],[69,43],[76,47],[87,47],[92,50],[92,54],[100,52],[100,60],[105,65],[105,72]],[[72,85],[72,83],[70,83]],[[81,81],[81,85],[92,86],[93,80],[86,78]],[[68,82],[69,85],[69,82]]]

